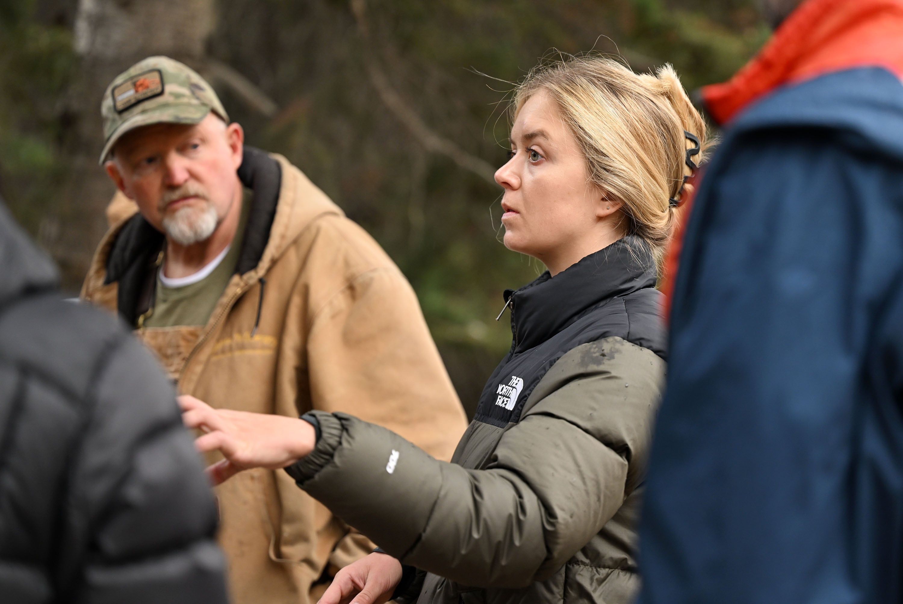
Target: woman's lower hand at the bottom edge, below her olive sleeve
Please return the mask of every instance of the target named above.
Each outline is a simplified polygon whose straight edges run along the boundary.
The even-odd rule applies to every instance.
[[[371,553],[336,574],[317,604],[383,604],[401,581],[401,562]]]

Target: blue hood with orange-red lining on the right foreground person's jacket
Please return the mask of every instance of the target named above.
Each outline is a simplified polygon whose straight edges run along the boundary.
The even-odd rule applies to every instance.
[[[903,0],[808,0],[730,81],[702,89],[707,113],[731,125],[715,159],[737,135],[768,127],[833,128],[872,151],[903,156],[901,77]],[[666,318],[703,175],[666,251]]]

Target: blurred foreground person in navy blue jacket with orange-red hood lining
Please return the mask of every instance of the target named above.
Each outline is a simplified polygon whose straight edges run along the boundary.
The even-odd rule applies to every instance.
[[[903,601],[901,75],[903,2],[809,0],[703,89],[644,604]]]

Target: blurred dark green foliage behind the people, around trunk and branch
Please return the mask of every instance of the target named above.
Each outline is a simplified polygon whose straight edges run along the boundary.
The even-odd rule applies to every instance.
[[[35,1],[0,4],[0,193],[33,233],[69,169],[59,141],[79,70],[71,23],[48,22]],[[280,107],[264,116],[220,91],[247,142],[300,166],[408,276],[465,404],[510,344],[501,291],[542,266],[501,245],[501,190],[426,153],[367,60],[438,135],[500,165],[506,82],[540,57],[667,61],[697,88],[728,79],[768,36],[753,0],[371,0],[367,19],[369,41],[345,0],[219,0],[209,55]]]

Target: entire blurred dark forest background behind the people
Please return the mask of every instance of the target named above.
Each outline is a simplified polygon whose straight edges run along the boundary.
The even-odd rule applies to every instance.
[[[77,292],[113,193],[104,88],[183,60],[396,260],[470,408],[510,344],[501,291],[543,270],[500,243],[507,82],[594,50],[694,89],[767,35],[753,0],[0,0],[0,196]]]

